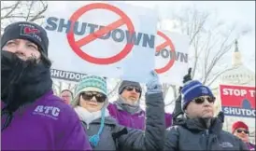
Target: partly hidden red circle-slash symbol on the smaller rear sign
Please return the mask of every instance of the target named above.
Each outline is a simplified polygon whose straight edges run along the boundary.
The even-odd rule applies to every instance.
[[[156,47],[156,52],[159,52],[163,48],[169,46],[170,47],[170,52],[171,52],[171,55],[172,55],[172,58],[170,59],[170,61],[163,68],[155,69],[155,71],[158,74],[162,74],[162,73],[168,71],[174,65],[175,58],[176,58],[176,53],[175,53],[175,47],[174,47],[173,42],[171,41],[171,39],[160,31],[157,31],[157,34],[160,35],[161,37],[163,37],[165,42]]]

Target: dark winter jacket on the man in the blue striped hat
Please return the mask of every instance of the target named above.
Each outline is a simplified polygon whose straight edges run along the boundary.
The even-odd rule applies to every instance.
[[[211,119],[206,129],[204,119],[187,119],[173,126],[166,133],[164,150],[249,150],[248,146],[233,134],[222,130],[220,117]]]

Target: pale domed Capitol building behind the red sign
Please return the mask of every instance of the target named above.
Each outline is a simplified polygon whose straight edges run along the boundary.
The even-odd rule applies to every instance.
[[[242,55],[238,48],[238,42],[235,41],[235,50],[232,54],[232,70],[223,73],[218,83],[223,85],[238,85],[238,86],[252,86],[255,87],[255,73],[250,71],[242,62]],[[218,86],[219,87],[219,86]],[[215,96],[217,96],[216,110],[220,111],[220,89],[213,89]],[[217,112],[218,113],[218,112]],[[223,130],[231,131],[232,124],[237,121],[244,121],[249,126],[249,140],[255,144],[255,117],[231,117],[225,116]]]

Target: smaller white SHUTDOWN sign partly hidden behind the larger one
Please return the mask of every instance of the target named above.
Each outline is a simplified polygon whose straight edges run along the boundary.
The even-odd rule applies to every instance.
[[[182,85],[189,67],[189,38],[186,35],[158,31],[156,39],[156,72],[162,83]]]

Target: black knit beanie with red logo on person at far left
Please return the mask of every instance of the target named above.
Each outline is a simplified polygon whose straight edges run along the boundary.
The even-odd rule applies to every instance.
[[[7,25],[1,37],[1,49],[7,44],[7,41],[13,39],[29,40],[48,56],[49,39],[47,32],[34,22],[19,21]]]

